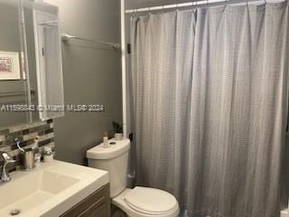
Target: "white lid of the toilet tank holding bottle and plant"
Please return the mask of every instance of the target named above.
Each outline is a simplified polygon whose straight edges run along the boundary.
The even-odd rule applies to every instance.
[[[130,140],[124,138],[123,140],[115,140],[114,138],[109,139],[109,143],[115,142],[116,145],[109,145],[103,147],[103,143],[98,146],[94,146],[87,151],[87,158],[94,160],[107,160],[121,156],[128,152],[130,148]]]

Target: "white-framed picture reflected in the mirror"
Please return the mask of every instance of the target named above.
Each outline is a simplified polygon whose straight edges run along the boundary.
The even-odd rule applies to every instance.
[[[0,51],[0,80],[20,80],[18,52]]]

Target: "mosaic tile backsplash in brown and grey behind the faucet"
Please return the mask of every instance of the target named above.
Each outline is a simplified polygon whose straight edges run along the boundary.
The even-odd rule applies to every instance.
[[[19,138],[21,141],[20,146],[31,147],[34,144],[34,138],[36,136],[40,137],[39,150],[41,153],[44,146],[51,146],[54,151],[55,144],[52,119],[0,130],[0,151],[7,152],[16,160],[14,165],[9,166],[10,171],[20,168],[21,165],[20,150],[14,144],[14,138]]]

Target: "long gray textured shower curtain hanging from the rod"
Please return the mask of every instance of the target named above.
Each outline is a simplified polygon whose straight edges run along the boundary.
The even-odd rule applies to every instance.
[[[276,217],[288,2],[132,17],[137,184],[193,217]]]

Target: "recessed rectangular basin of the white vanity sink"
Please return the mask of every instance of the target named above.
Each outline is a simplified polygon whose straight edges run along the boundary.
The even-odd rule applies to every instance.
[[[79,179],[47,170],[26,175],[23,179],[0,187],[0,195],[5,195],[5,200],[0,201],[0,216],[5,216],[15,209],[21,213],[27,208],[37,207],[39,203],[78,182]]]

